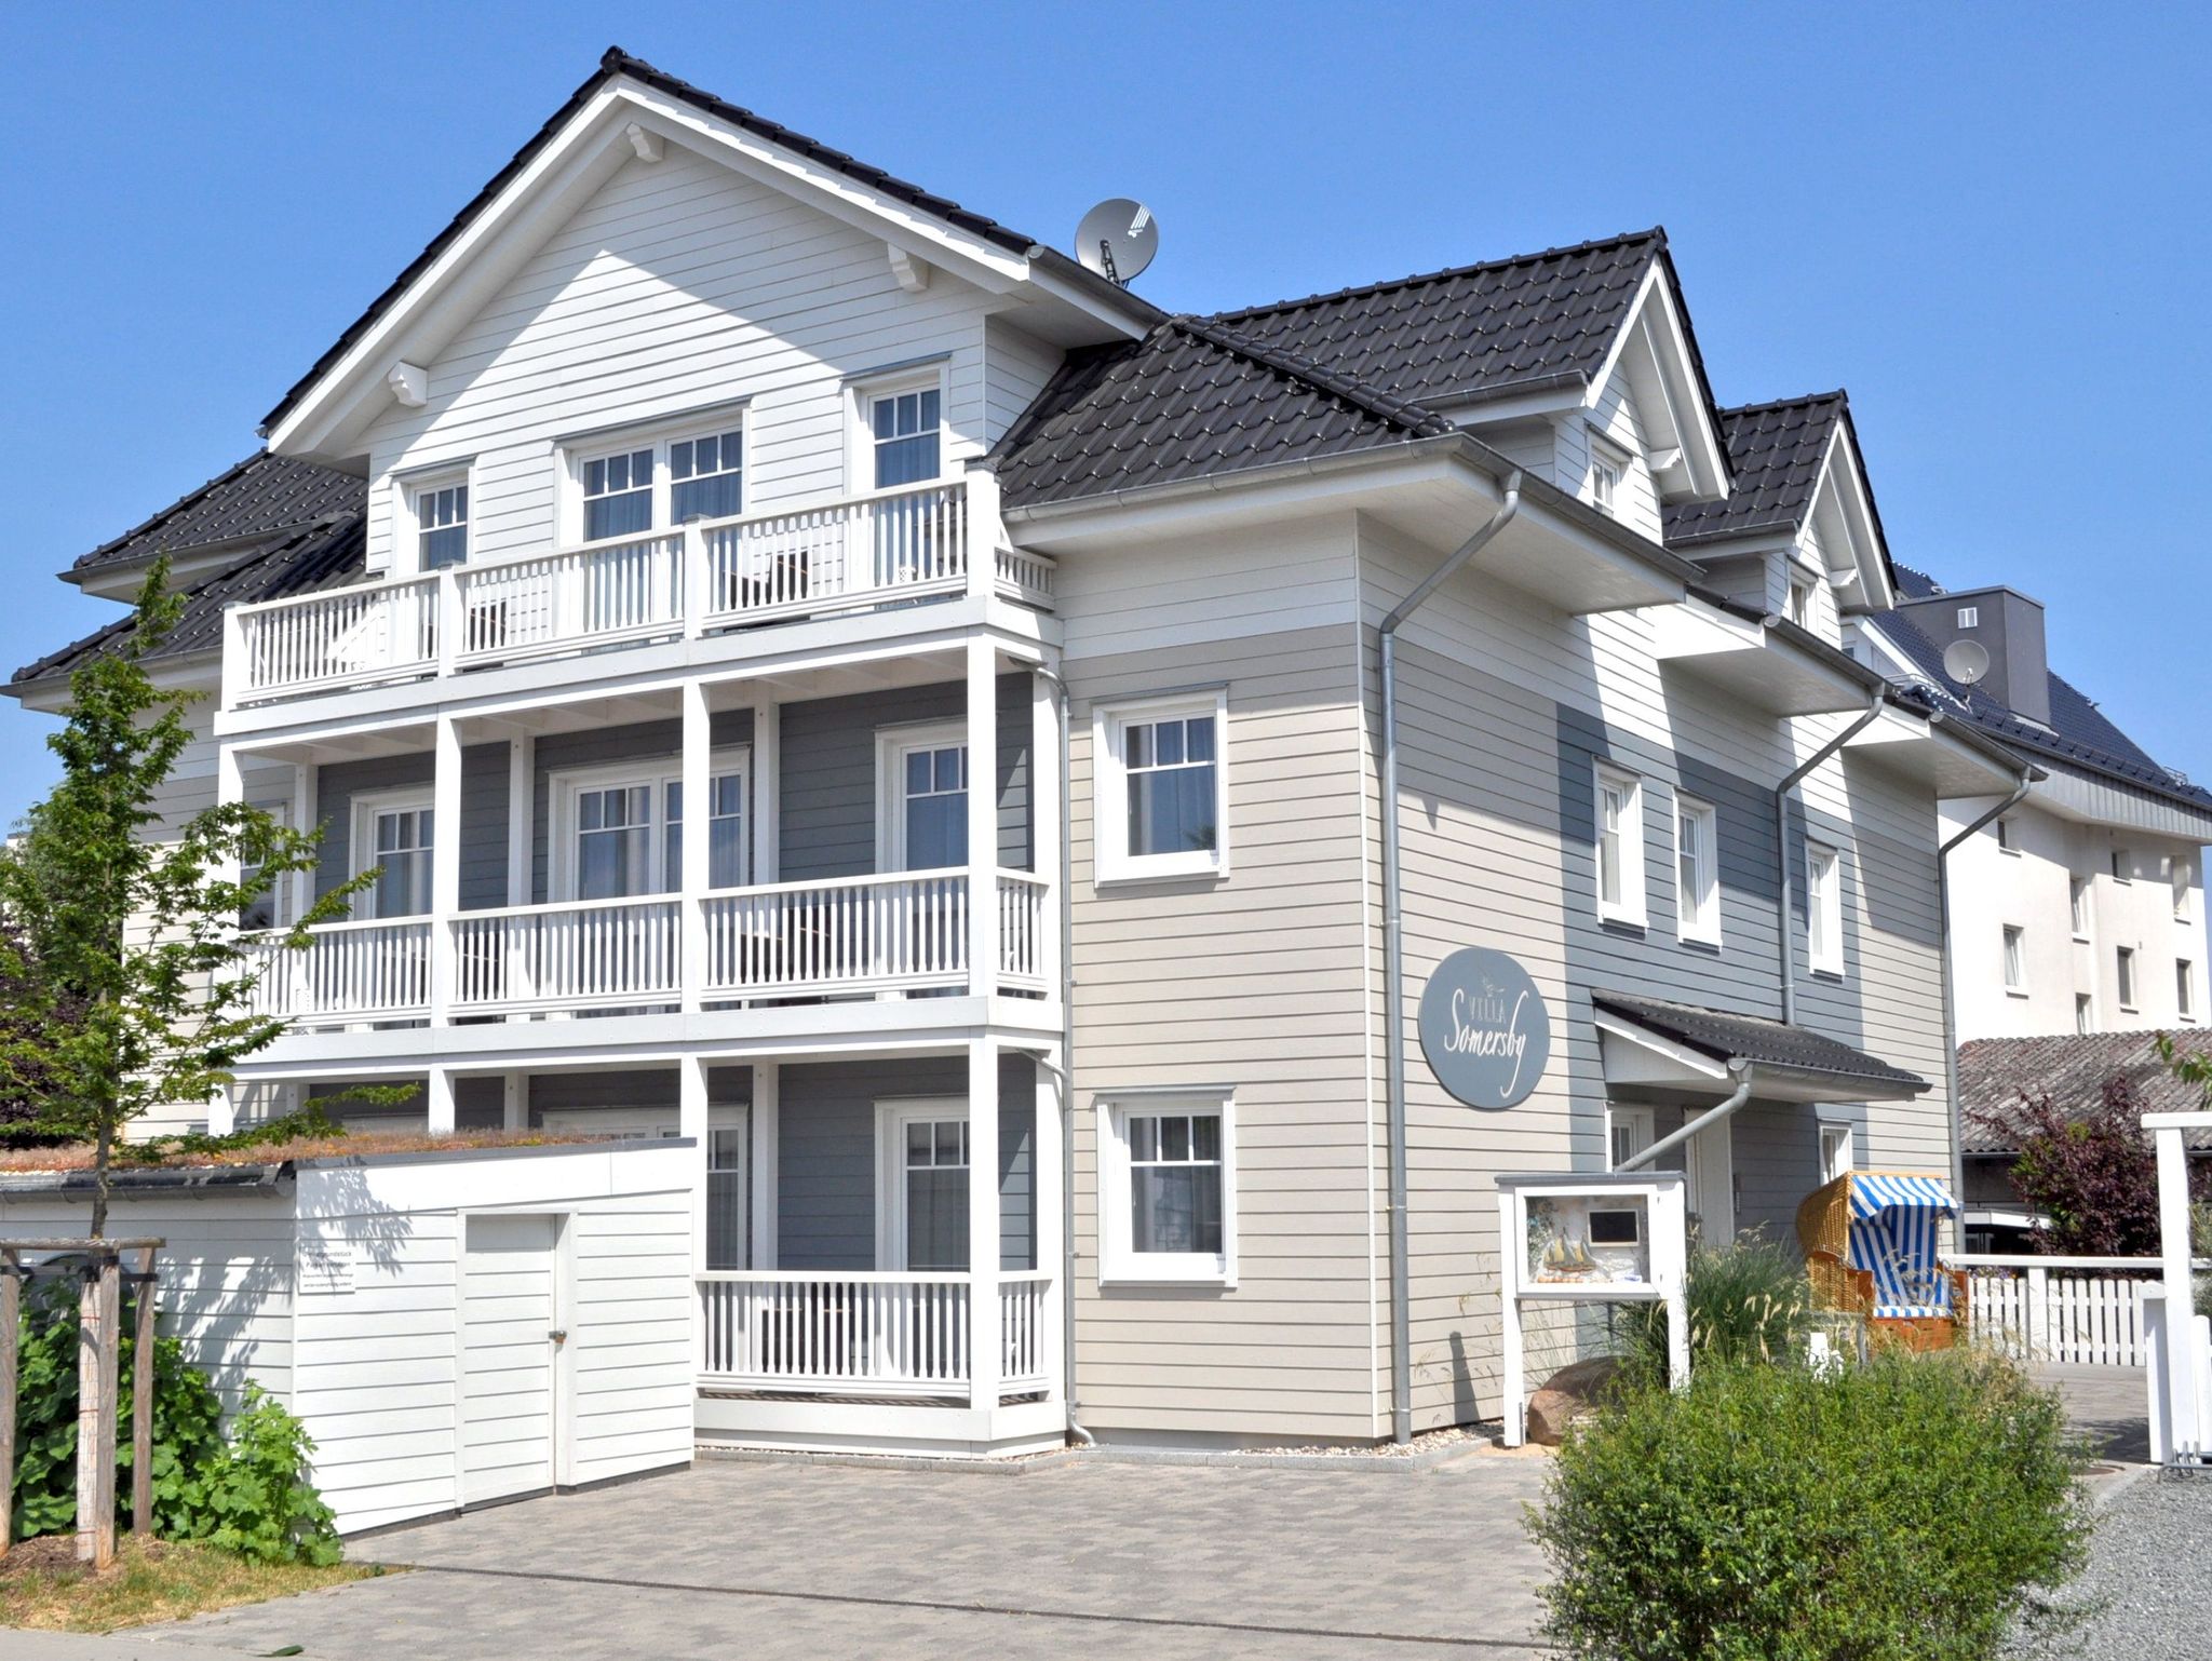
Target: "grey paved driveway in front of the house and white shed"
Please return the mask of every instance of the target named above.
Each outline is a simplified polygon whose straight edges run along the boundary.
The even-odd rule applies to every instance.
[[[1535,1657],[1544,1464],[1062,1460],[1020,1475],[699,1466],[363,1542],[416,1573],[144,1628],[168,1646],[394,1654],[1221,1661]]]

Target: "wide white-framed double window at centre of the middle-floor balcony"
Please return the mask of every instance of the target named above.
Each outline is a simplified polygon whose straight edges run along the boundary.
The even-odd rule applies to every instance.
[[[743,745],[708,759],[708,887],[748,878]],[[619,900],[684,887],[684,767],[657,763],[575,767],[551,779],[553,898]]]

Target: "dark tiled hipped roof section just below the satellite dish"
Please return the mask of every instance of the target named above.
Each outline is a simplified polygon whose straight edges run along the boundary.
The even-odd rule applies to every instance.
[[[1334,367],[1179,316],[1144,341],[1071,354],[993,464],[1002,500],[1035,506],[1449,431]]]

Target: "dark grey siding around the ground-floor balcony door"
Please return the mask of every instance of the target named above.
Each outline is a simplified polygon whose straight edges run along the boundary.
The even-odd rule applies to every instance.
[[[785,1066],[776,1097],[776,1267],[876,1267],[876,1104],[967,1097],[964,1057]],[[1031,1148],[1037,1075],[1026,1055],[998,1070],[1000,1267],[1035,1267]]]

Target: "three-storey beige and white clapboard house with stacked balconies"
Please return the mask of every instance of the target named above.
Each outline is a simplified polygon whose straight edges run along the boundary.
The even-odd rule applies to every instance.
[[[1829,405],[1714,409],[1657,230],[1166,316],[611,53],[73,573],[197,584],[173,809],[323,825],[279,916],[380,869],[212,1119],[695,1137],[706,1438],[1495,1413],[1495,1174],[1739,1082],[1708,1236],[1953,1161],[1940,803],[2026,763],[1843,650],[1896,577]],[[1407,1020],[1400,1243],[1378,626],[1484,526],[1398,637],[1402,991],[1502,949],[1551,1064],[1480,1112]]]

